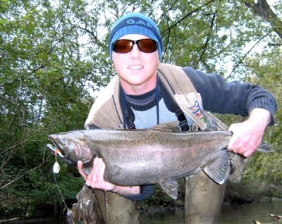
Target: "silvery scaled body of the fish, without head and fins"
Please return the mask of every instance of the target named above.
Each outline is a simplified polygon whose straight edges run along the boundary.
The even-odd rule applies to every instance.
[[[125,186],[154,184],[196,173],[219,156],[231,137],[226,131],[134,130],[105,134],[101,137],[99,133],[98,141],[98,136],[91,135],[89,147],[106,163],[106,180]]]

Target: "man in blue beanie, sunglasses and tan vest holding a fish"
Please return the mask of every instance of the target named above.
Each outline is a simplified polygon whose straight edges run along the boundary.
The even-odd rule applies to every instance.
[[[216,74],[160,65],[161,53],[159,29],[150,18],[129,13],[118,19],[109,36],[109,54],[117,76],[94,102],[85,127],[146,128],[179,120],[182,130],[192,130],[197,125],[197,118],[193,117],[195,113],[202,116],[201,109],[240,114],[248,118],[229,127],[233,137],[228,150],[251,156],[262,142],[266,126],[274,123],[276,101],[271,94],[249,83],[224,82]],[[183,115],[172,92],[185,94],[192,100],[188,104],[192,116]],[[78,169],[86,185],[94,189],[102,221],[139,223],[134,201],[152,194],[154,186],[123,187],[106,182],[101,158],[94,159],[91,175],[85,175],[81,168],[79,162]],[[202,172],[186,180],[185,223],[217,223],[225,184],[216,184]]]

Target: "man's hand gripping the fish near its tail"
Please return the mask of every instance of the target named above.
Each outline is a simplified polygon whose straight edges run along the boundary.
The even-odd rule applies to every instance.
[[[255,108],[247,120],[231,125],[228,130],[233,132],[233,136],[228,144],[228,150],[243,154],[243,156],[251,156],[262,143],[264,130],[270,119],[269,111]]]

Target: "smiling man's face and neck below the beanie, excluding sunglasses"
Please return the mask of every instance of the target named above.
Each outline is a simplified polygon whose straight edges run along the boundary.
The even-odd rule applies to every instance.
[[[120,39],[139,40],[148,39],[148,37],[125,35]],[[133,49],[128,53],[121,54],[113,51],[112,61],[126,94],[144,94],[156,87],[158,51],[145,53],[138,49],[137,44],[134,44]]]

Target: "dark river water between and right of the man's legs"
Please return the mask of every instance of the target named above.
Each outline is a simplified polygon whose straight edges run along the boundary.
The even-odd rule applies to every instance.
[[[260,223],[282,223],[282,220],[269,217],[270,214],[282,215],[282,200],[223,206],[219,224],[250,224],[253,218]],[[184,223],[183,210],[142,214],[142,224],[180,223]]]

